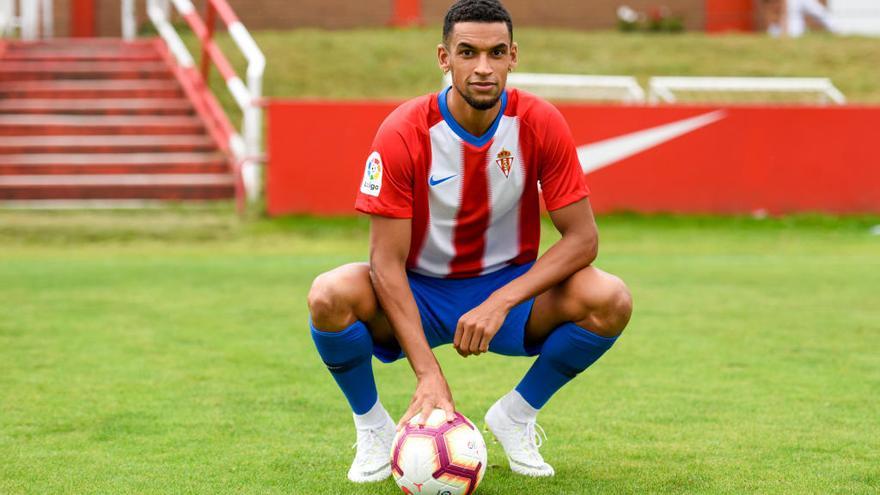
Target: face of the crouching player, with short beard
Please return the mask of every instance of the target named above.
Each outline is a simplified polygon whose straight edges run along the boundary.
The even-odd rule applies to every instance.
[[[452,85],[477,110],[495,106],[516,67],[516,43],[503,22],[459,22],[447,43],[437,47],[440,67],[452,72]]]

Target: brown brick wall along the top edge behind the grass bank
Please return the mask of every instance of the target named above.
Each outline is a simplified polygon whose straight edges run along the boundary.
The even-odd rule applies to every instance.
[[[248,29],[330,29],[384,26],[391,19],[393,0],[228,0]],[[71,0],[55,0],[56,36],[70,25]],[[99,36],[119,36],[120,0],[95,0]],[[195,0],[203,11],[203,0]],[[425,21],[439,24],[451,0],[422,0]],[[136,0],[138,22],[147,22],[145,0]],[[705,26],[705,0],[506,0],[515,26],[553,26],[571,29],[613,29],[621,4],[637,10],[665,5],[684,16],[689,30]]]

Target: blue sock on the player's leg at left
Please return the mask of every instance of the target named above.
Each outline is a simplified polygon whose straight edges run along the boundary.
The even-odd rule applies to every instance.
[[[312,340],[318,354],[355,414],[364,414],[376,404],[379,393],[373,378],[373,339],[366,325],[356,321],[341,332],[322,332],[311,321]]]

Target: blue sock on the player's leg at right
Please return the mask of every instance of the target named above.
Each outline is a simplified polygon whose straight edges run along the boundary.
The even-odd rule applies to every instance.
[[[571,322],[559,325],[547,337],[541,354],[516,391],[529,405],[540,409],[557,390],[596,362],[615,340],[617,337],[601,337]]]

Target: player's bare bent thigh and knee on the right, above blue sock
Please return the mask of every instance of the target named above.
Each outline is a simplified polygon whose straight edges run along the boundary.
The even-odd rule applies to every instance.
[[[563,323],[589,322],[621,287],[626,286],[618,277],[588,266],[538,295],[526,322],[526,345],[542,343]]]

